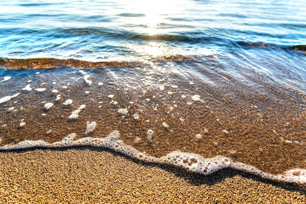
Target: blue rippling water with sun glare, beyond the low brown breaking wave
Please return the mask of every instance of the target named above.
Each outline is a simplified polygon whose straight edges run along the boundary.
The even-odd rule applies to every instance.
[[[294,1],[163,0],[0,3],[0,57],[138,60],[306,44]]]

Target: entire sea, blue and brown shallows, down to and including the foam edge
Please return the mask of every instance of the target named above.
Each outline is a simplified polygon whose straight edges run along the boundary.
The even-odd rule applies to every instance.
[[[0,149],[96,146],[306,182],[303,0],[0,2]]]

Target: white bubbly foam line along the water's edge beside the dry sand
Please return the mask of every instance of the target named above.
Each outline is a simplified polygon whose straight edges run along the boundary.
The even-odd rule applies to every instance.
[[[81,139],[74,140],[77,135],[72,133],[66,136],[62,141],[48,143],[43,140],[26,140],[14,145],[4,145],[0,147],[0,150],[16,150],[24,148],[37,148],[37,147],[46,147],[46,148],[59,148],[59,147],[72,147],[72,146],[93,146],[93,147],[102,147],[114,150],[119,153],[123,153],[131,158],[150,162],[150,163],[160,163],[173,165],[179,168],[184,168],[192,172],[197,172],[203,175],[209,175],[214,172],[217,172],[224,168],[232,168],[254,175],[258,175],[262,178],[273,180],[273,181],[282,181],[290,183],[306,183],[306,169],[290,169],[284,172],[284,175],[278,174],[273,175],[261,171],[260,169],[244,164],[241,162],[235,162],[230,158],[224,156],[216,156],[214,158],[204,159],[202,156],[187,153],[181,151],[174,151],[168,155],[156,158],[152,156],[147,156],[142,152],[134,149],[133,147],[124,144],[122,140],[119,139],[119,131],[113,131],[108,136],[104,138],[100,137],[84,137]]]

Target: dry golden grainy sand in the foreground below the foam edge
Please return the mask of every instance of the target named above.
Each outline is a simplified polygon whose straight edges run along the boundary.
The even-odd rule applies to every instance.
[[[204,177],[82,147],[0,152],[0,203],[305,204],[306,186],[230,169]]]

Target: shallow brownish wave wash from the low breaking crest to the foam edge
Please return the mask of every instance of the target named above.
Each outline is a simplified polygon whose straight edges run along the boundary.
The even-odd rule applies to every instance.
[[[117,130],[120,139],[113,141],[122,143],[111,143],[113,150],[124,147],[129,152],[122,153],[136,159],[204,175],[234,168],[275,181],[305,182],[305,95],[237,67],[250,77],[242,81],[216,56],[206,56],[208,62],[202,57],[164,56],[148,64],[1,59],[1,67],[18,69],[0,69],[2,149],[56,148],[65,142],[112,148],[97,137]],[[55,66],[67,68],[48,69]],[[103,69],[107,66],[113,68]],[[120,66],[131,68],[116,69]],[[88,126],[94,131],[84,132]],[[63,140],[71,133],[74,138]]]

